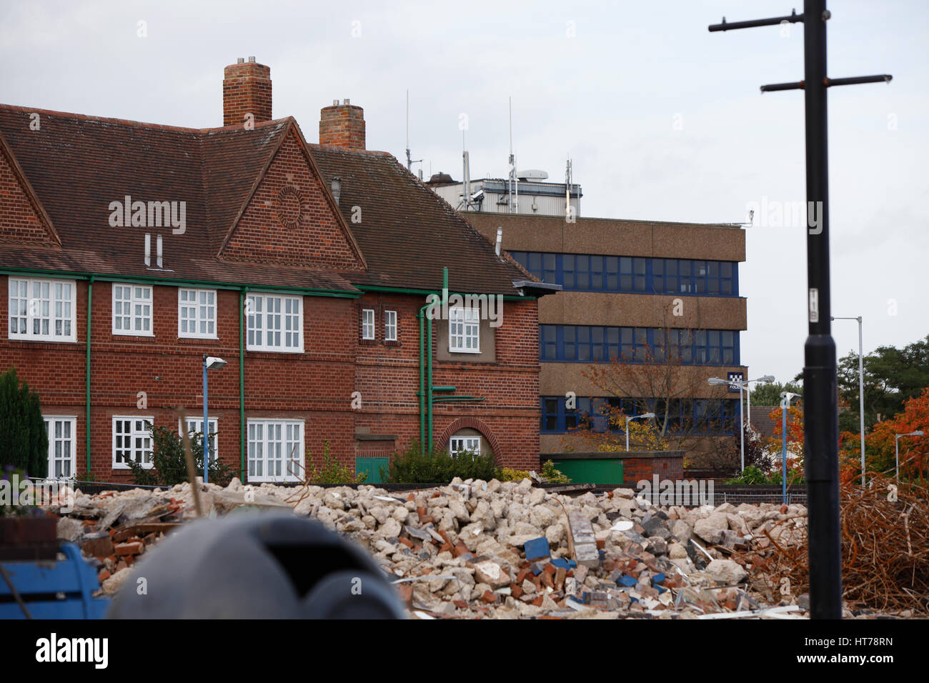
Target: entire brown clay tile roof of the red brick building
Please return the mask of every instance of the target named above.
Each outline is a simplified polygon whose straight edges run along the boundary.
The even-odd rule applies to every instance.
[[[30,129],[40,114],[41,129]],[[0,105],[5,144],[51,222],[47,245],[0,242],[0,265],[98,275],[145,276],[357,292],[354,285],[435,291],[449,267],[452,292],[517,294],[533,280],[449,204],[386,152],[307,145],[328,188],[341,177],[339,210],[367,271],[233,263],[216,258],[292,118],[223,128],[180,128]],[[302,139],[302,134],[300,134]],[[184,234],[112,227],[110,203],[185,202]],[[360,206],[361,221],[352,221]],[[164,239],[164,270],[146,268],[145,233]]]

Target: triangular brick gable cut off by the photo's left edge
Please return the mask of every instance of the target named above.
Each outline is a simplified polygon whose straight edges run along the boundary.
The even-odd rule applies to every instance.
[[[20,162],[9,149],[0,133],[0,193],[3,213],[0,215],[0,242],[29,243],[60,247],[61,238],[52,219],[35,196],[29,178],[23,173]]]

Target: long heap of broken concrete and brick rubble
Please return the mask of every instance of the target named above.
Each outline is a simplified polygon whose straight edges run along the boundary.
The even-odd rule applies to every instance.
[[[115,591],[146,546],[196,516],[190,485],[77,492],[59,536],[101,563]],[[653,506],[631,489],[549,493],[530,479],[375,486],[243,486],[199,492],[202,514],[280,507],[367,548],[419,618],[732,618],[803,614],[788,590],[749,588],[749,545],[801,543],[803,506]],[[54,511],[54,510],[52,510]],[[804,598],[804,597],[800,597]],[[803,600],[800,600],[801,604]]]

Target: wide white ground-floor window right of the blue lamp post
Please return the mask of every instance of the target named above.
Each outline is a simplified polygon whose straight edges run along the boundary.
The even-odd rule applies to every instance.
[[[248,480],[302,480],[303,427],[303,420],[248,420]]]

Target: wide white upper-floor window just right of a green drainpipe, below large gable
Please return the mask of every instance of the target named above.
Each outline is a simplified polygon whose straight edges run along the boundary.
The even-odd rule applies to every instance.
[[[246,348],[250,351],[303,353],[303,297],[250,294]]]

